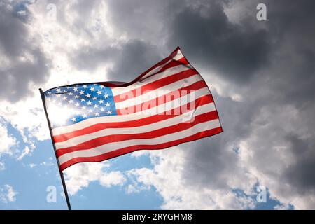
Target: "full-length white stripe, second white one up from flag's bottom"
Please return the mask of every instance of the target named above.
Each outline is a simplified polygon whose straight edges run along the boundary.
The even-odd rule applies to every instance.
[[[216,108],[214,106],[214,103],[204,104],[202,106],[197,107],[197,109],[195,109],[193,111],[188,111],[186,113],[183,113],[179,116],[175,116],[173,118],[160,120],[160,121],[155,122],[155,123],[137,126],[137,127],[107,128],[104,130],[100,130],[98,132],[93,132],[90,134],[85,134],[85,135],[81,135],[78,137],[73,137],[72,139],[69,139],[67,141],[57,142],[55,144],[55,146],[57,149],[68,148],[68,147],[72,147],[72,146],[76,146],[78,144],[81,144],[85,141],[90,141],[90,140],[96,139],[98,137],[105,137],[105,136],[111,135],[113,133],[115,133],[115,134],[140,134],[140,133],[145,133],[145,132],[151,132],[153,130],[158,130],[158,129],[163,128],[163,127],[169,127],[172,125],[183,123],[183,120],[184,120],[183,118],[194,118],[195,116],[198,116],[200,114],[208,113],[210,111],[215,111],[215,110],[216,110]]]

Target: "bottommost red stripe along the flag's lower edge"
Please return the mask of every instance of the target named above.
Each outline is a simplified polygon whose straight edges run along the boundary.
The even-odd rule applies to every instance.
[[[179,144],[182,144],[182,143],[185,143],[188,141],[195,141],[197,139],[209,137],[211,135],[218,134],[221,132],[223,132],[222,127],[217,127],[217,128],[211,129],[211,130],[198,132],[196,134],[191,135],[190,137],[186,137],[186,138],[178,139],[178,140],[174,140],[174,141],[169,141],[169,142],[162,143],[162,144],[128,146],[125,148],[120,148],[116,151],[111,151],[109,153],[104,153],[102,155],[97,155],[97,156],[93,156],[93,157],[73,158],[71,160],[64,162],[62,165],[60,165],[59,169],[62,171],[64,169],[66,169],[67,167],[70,167],[71,165],[74,165],[78,162],[101,162],[103,160],[108,160],[108,159],[115,158],[115,157],[120,156],[120,155],[124,155],[126,153],[132,153],[132,152],[138,151],[138,150],[162,149],[162,148],[177,146]]]

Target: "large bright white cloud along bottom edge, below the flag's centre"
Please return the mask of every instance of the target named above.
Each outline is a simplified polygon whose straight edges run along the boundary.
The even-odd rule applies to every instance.
[[[163,197],[162,209],[246,209],[255,202],[250,197],[239,197],[232,188],[211,188],[185,180],[186,160],[189,155],[179,146],[152,152],[153,169],[132,169],[127,172],[134,183],[127,193],[139,193],[151,186]],[[248,181],[247,183],[251,183]],[[254,182],[253,182],[254,183]],[[232,186],[232,184],[231,184]],[[250,184],[248,186],[250,188]]]

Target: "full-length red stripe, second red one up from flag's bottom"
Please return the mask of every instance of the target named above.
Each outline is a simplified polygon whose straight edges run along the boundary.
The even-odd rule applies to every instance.
[[[76,146],[57,149],[57,156],[59,157],[59,156],[64,155],[66,153],[71,153],[71,152],[79,151],[79,150],[87,150],[90,148],[95,148],[98,146],[102,146],[104,144],[109,144],[109,143],[117,142],[117,141],[125,141],[125,140],[130,140],[130,139],[153,139],[156,137],[161,137],[161,136],[166,135],[166,134],[172,134],[174,132],[181,132],[181,131],[186,130],[190,127],[193,127],[199,123],[204,123],[206,121],[215,120],[215,119],[218,119],[216,111],[211,111],[208,113],[202,113],[198,116],[195,116],[195,119],[191,122],[178,123],[176,125],[172,125],[172,126],[168,126],[168,127],[162,127],[158,130],[153,130],[150,132],[137,133],[137,134],[106,135],[106,136],[98,137],[96,139],[91,139],[90,141],[85,141],[85,142],[78,144]]]

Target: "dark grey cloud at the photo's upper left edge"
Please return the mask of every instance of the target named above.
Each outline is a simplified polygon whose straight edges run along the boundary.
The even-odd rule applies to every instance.
[[[0,98],[12,102],[26,97],[32,83],[48,78],[48,59],[29,37],[25,25],[29,11],[23,7],[0,3],[0,52],[4,61],[0,67]]]

